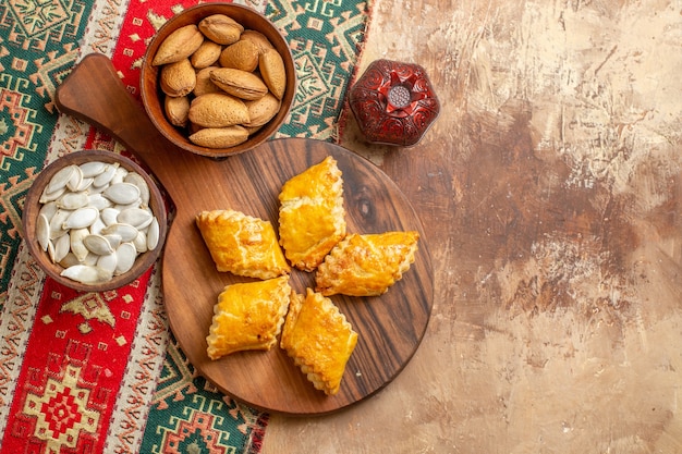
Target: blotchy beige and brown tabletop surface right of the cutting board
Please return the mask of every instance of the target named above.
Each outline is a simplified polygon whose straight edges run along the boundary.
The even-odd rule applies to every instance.
[[[376,396],[272,415],[264,454],[682,452],[682,2],[376,0],[361,72],[422,64],[424,140],[369,157],[434,258]]]

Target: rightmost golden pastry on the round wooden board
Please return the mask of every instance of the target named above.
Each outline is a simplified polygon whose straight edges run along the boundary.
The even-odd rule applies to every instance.
[[[418,240],[414,231],[351,234],[317,269],[315,290],[325,296],[381,295],[410,269]]]

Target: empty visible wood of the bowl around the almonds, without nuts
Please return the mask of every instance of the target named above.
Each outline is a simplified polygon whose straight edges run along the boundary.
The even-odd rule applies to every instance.
[[[287,73],[287,88],[281,99],[279,112],[249,138],[230,148],[206,148],[193,144],[185,128],[173,126],[167,119],[163,109],[165,94],[159,87],[159,66],[151,65],[161,42],[175,29],[190,24],[198,24],[204,17],[212,14],[226,14],[239,22],[245,29],[253,29],[265,35],[282,56]],[[289,45],[279,29],[263,14],[249,8],[233,3],[204,3],[191,7],[170,19],[154,37],[142,65],[141,94],[142,101],[151,123],[173,144],[180,148],[212,158],[222,158],[247,151],[271,137],[287,119],[296,89],[296,73]]]

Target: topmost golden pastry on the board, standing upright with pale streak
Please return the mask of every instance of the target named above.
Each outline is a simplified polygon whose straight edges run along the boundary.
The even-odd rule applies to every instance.
[[[284,255],[293,267],[313,271],[345,236],[343,180],[337,161],[328,156],[290,179],[279,200]]]

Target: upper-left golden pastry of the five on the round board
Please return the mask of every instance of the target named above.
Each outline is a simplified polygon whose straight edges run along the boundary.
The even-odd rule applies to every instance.
[[[202,211],[196,224],[218,271],[272,279],[291,271],[269,221],[234,210]]]

